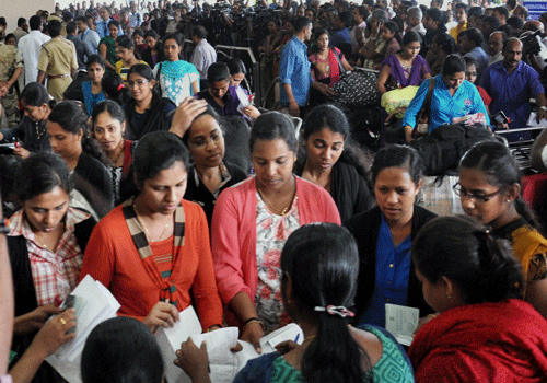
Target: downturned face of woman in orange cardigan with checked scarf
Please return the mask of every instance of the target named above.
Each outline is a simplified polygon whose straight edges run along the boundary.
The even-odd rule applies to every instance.
[[[143,209],[149,213],[173,214],[186,192],[187,172],[182,162],[144,179],[139,194]]]

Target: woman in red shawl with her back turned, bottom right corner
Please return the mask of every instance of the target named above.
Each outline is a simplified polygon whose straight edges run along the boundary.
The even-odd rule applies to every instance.
[[[416,334],[416,382],[543,382],[547,322],[520,300],[523,276],[505,241],[476,220],[441,217],[414,242],[423,295],[441,314]]]

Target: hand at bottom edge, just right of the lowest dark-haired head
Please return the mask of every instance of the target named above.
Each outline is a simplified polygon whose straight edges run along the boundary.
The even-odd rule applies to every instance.
[[[181,344],[181,349],[176,352],[174,363],[190,376],[193,382],[202,382],[209,379],[209,357],[207,345],[203,341],[198,348],[191,338]]]

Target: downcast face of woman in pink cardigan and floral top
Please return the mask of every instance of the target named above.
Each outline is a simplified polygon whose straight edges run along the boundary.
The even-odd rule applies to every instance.
[[[257,140],[251,158],[263,192],[278,192],[292,182],[296,158],[283,139]]]

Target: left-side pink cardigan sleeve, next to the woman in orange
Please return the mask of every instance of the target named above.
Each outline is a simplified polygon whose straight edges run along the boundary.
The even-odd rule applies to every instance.
[[[238,207],[233,188],[224,189],[217,200],[211,223],[211,248],[217,286],[224,304],[240,291],[253,294],[243,279],[243,263],[240,248]],[[254,224],[254,222],[252,222]]]

